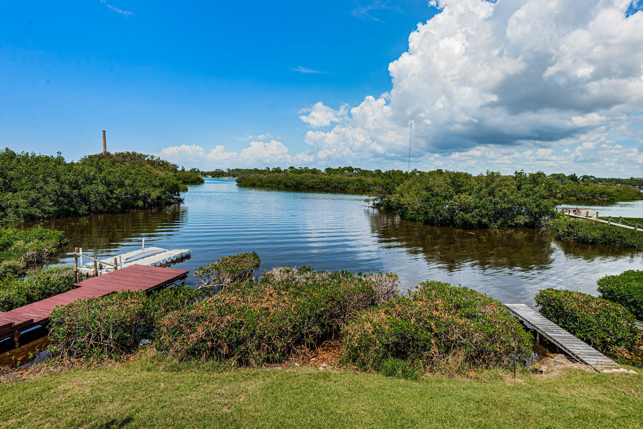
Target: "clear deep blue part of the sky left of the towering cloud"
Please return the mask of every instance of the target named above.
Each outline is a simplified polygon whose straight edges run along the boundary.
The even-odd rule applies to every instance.
[[[0,143],[68,159],[100,151],[102,129],[111,151],[235,149],[247,145],[236,137],[266,132],[303,150],[297,112],[388,91],[388,63],[437,12],[422,0],[2,1],[0,10]]]

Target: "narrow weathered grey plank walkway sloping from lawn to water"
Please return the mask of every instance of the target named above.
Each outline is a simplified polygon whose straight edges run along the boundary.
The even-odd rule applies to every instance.
[[[590,365],[599,372],[620,368],[618,363],[554,324],[538,311],[525,306],[525,304],[505,304],[505,306],[526,325],[556,344],[575,360]]]

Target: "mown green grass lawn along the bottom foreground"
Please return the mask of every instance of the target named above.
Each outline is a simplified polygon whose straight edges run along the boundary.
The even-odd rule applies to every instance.
[[[5,428],[640,428],[643,376],[421,381],[293,368],[132,364],[0,385]]]

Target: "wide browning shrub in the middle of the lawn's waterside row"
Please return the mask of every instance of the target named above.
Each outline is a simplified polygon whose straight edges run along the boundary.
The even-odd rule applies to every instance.
[[[261,365],[332,338],[356,313],[395,297],[392,274],[275,268],[235,284],[158,325],[156,348],[180,360]]]

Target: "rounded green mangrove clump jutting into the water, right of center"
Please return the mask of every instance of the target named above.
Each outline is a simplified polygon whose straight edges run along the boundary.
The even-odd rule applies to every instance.
[[[555,214],[559,201],[559,186],[542,172],[387,171],[374,183],[374,206],[437,226],[533,228]]]

